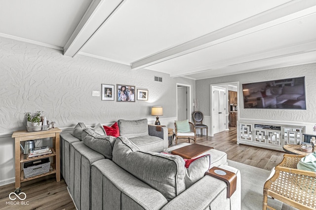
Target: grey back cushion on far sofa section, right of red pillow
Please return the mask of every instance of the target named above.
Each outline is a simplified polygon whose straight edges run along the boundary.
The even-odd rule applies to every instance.
[[[118,120],[118,128],[120,136],[124,136],[127,138],[149,135],[147,119]]]

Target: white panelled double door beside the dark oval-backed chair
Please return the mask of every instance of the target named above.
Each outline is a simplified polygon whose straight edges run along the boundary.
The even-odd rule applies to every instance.
[[[225,89],[212,88],[212,125],[213,134],[225,131]]]

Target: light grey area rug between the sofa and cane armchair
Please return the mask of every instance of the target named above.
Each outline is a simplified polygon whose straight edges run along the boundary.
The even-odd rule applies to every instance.
[[[270,171],[228,160],[228,165],[241,174],[241,210],[262,210],[263,185]],[[282,203],[268,197],[268,205],[282,210]]]

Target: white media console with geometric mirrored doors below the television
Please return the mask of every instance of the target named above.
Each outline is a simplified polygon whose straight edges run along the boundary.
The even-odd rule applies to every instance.
[[[268,149],[283,150],[285,144],[300,144],[305,126],[239,121],[237,144],[247,144]]]

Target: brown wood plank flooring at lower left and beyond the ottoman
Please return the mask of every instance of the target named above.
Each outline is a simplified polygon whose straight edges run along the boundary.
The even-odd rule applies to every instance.
[[[188,140],[178,140],[178,143]],[[173,144],[175,141],[173,141]],[[192,141],[191,141],[192,143]],[[227,153],[229,160],[237,161],[258,168],[271,170],[281,160],[284,153],[253,146],[237,145],[236,128],[215,134],[214,137],[198,136],[197,143],[212,146]],[[21,183],[22,191],[27,195],[29,205],[9,205],[9,194],[14,192],[14,183],[0,187],[1,210],[75,210],[74,203],[66,188],[63,178],[56,182],[55,175],[49,175]],[[14,197],[14,196],[12,196]],[[18,200],[18,199],[17,199]]]

